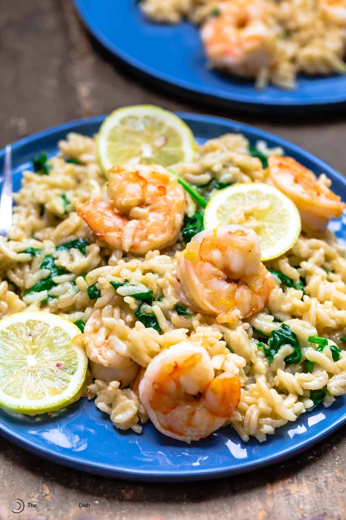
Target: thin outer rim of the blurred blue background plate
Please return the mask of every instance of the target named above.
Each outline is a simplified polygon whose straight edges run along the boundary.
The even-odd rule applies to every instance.
[[[227,102],[227,103],[240,103],[240,105],[246,105],[249,107],[307,107],[312,108],[314,106],[324,107],[324,106],[333,106],[340,105],[341,103],[346,102],[346,91],[344,94],[330,94],[330,96],[321,96],[320,98],[315,98],[310,100],[301,99],[301,100],[275,100],[273,103],[269,103],[267,100],[249,99],[246,95],[242,94],[233,94],[230,96],[219,96],[213,92],[212,88],[205,87],[200,85],[197,89],[195,85],[190,84],[188,81],[179,80],[173,76],[169,76],[163,72],[160,72],[152,67],[146,66],[141,61],[133,58],[128,53],[124,52],[118,45],[114,44],[109,40],[107,36],[103,34],[103,32],[98,28],[98,25],[94,22],[92,17],[89,15],[88,8],[85,4],[85,0],[73,0],[74,6],[85,24],[86,28],[90,31],[90,33],[98,40],[106,49],[110,51],[110,53],[114,54],[118,58],[120,58],[123,62],[127,63],[133,69],[140,71],[146,74],[149,77],[154,77],[155,79],[170,85],[171,87],[176,87],[181,90],[185,90],[186,93],[189,94],[200,94],[209,99],[217,100],[218,102]],[[254,87],[255,88],[255,87]]]

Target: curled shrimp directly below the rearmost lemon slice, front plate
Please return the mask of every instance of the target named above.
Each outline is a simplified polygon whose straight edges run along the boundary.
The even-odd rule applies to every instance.
[[[135,254],[173,244],[183,223],[185,196],[175,175],[158,165],[114,166],[108,201],[89,200],[78,215],[112,248]]]

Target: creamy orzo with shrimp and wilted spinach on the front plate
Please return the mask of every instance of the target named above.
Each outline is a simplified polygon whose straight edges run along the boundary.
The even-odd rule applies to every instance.
[[[216,3],[160,5],[176,21]],[[48,174],[25,172],[15,195],[0,238],[0,316],[41,309],[77,323],[89,397],[116,427],[140,433],[150,417],[190,442],[231,423],[261,442],[346,393],[346,259],[320,220],[311,227],[323,201],[301,212],[298,241],[264,266],[246,208],[203,231],[196,199],[165,168],[112,168],[105,188],[93,139],[69,134],[59,147]],[[174,170],[207,200],[232,183],[266,183],[280,154],[229,134]],[[333,199],[326,176],[313,183]]]

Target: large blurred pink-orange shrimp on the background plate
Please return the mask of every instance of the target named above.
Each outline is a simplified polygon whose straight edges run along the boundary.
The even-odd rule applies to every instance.
[[[218,16],[203,24],[201,37],[212,67],[254,77],[274,62],[275,35],[267,0],[220,2]]]

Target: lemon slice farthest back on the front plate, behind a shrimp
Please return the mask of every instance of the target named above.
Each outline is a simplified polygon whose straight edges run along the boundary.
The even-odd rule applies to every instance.
[[[196,143],[190,128],[152,105],[119,108],[102,123],[96,152],[102,169],[127,162],[170,166],[191,161]]]

